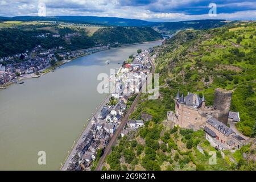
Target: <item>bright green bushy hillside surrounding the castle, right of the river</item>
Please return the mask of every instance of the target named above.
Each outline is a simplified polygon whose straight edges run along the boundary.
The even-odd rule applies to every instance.
[[[236,23],[211,30],[181,31],[155,48],[160,97],[147,100],[143,94],[130,115],[141,119],[147,113],[152,120],[120,138],[103,169],[255,171],[255,142],[236,152],[224,151],[222,157],[205,139],[203,130],[172,129],[172,123],[166,120],[167,111],[174,110],[178,89],[181,93],[205,94],[207,105],[212,105],[214,89],[224,88],[233,90],[230,110],[240,112],[238,130],[255,137],[255,28],[255,23]],[[210,151],[217,154],[216,164],[208,162]]]

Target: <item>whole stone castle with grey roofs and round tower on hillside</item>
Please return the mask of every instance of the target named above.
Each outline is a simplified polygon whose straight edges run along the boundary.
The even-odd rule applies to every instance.
[[[231,91],[216,89],[213,106],[206,106],[204,96],[200,98],[195,93],[180,96],[178,91],[175,97],[175,113],[168,111],[167,119],[186,129],[204,128],[206,139],[220,150],[240,148],[245,139],[227,126],[228,121],[240,121],[239,113],[229,111],[231,100]]]

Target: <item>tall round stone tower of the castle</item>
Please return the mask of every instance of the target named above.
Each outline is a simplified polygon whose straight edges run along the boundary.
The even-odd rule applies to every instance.
[[[220,110],[218,120],[228,125],[229,109],[231,105],[232,91],[216,89],[214,94],[214,108]]]

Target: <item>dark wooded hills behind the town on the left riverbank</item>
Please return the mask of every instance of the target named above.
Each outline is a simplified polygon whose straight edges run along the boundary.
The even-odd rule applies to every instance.
[[[80,36],[72,36],[70,40],[65,39],[65,35],[72,32],[79,32]],[[38,35],[49,33],[46,38]],[[59,33],[59,38],[52,35]],[[73,30],[71,28],[57,28],[46,26],[22,26],[19,28],[2,28],[0,30],[0,57],[22,53],[28,49],[31,51],[36,45],[49,49],[63,46],[65,49],[76,50],[94,47],[96,44],[131,44],[146,41],[160,40],[162,36],[152,28],[137,27],[113,27],[100,28],[92,36],[88,36],[83,30]]]

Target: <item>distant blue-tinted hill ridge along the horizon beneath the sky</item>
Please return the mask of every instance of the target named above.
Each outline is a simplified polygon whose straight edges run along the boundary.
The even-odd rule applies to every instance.
[[[149,22],[140,19],[126,19],[117,17],[100,16],[14,16],[1,17],[0,20],[19,20],[19,21],[60,21],[73,23],[98,24],[102,26],[123,26],[123,27],[153,27],[156,31],[173,33],[177,30],[193,28],[203,30],[207,28],[220,27],[226,24],[222,19],[188,20],[181,22]]]

